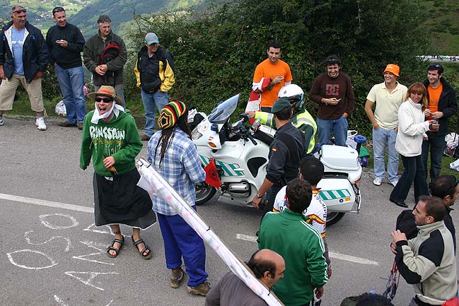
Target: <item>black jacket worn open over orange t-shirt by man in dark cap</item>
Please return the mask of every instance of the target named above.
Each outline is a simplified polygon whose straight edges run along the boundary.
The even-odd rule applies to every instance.
[[[440,101],[438,102],[438,111],[443,113],[443,117],[438,120],[440,124],[440,129],[438,129],[438,135],[446,135],[448,134],[448,118],[458,111],[458,101],[456,98],[456,90],[449,85],[449,83],[444,79],[444,77],[440,78],[440,82],[442,82],[443,90],[442,95],[440,95]],[[428,88],[428,79],[424,81],[424,86]],[[427,91],[427,99],[428,99],[428,91]]]

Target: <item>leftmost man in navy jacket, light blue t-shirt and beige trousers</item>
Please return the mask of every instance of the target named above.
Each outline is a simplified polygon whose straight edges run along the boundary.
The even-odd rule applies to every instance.
[[[0,32],[0,126],[3,112],[13,109],[17,86],[22,83],[37,115],[35,125],[46,131],[41,79],[49,59],[45,38],[27,22],[24,7],[13,6],[11,19]]]

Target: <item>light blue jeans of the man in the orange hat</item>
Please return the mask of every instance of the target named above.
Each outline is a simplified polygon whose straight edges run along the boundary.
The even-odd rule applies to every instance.
[[[387,175],[389,182],[398,179],[398,152],[395,150],[395,140],[397,132],[394,129],[373,129],[373,157],[375,178],[383,179],[385,172],[385,150],[387,145]]]

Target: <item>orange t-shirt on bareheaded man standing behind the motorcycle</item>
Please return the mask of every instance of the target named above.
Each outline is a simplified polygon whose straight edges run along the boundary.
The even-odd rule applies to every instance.
[[[285,82],[290,82],[292,80],[289,64],[284,61],[278,60],[277,63],[273,64],[266,58],[255,68],[255,74],[253,75],[253,81],[259,82],[261,78],[274,79],[277,76],[282,76],[284,79],[273,86],[273,88],[266,88],[261,92],[261,107],[273,107],[275,100],[277,100],[277,94],[279,93],[280,88],[284,86]]]

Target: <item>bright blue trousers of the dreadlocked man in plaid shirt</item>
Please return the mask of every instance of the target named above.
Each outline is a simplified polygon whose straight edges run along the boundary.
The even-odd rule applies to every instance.
[[[168,269],[180,268],[183,256],[189,277],[188,286],[196,287],[205,282],[209,275],[206,273],[204,241],[181,216],[157,215]]]

